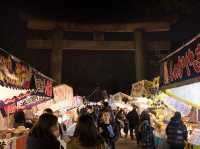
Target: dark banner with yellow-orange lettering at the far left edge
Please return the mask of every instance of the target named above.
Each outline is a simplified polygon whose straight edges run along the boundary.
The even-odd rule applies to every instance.
[[[32,69],[0,50],[0,84],[29,89]]]

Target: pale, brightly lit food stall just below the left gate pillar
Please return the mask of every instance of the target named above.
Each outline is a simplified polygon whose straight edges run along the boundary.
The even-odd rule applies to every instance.
[[[77,108],[83,105],[83,98],[73,96],[73,88],[66,84],[55,86],[53,92],[54,100],[38,105],[36,114],[41,115],[44,109],[51,108],[58,114],[59,123],[70,129],[78,120]],[[68,135],[67,132],[66,135]]]

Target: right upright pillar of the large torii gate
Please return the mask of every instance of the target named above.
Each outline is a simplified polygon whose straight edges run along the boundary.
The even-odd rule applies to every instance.
[[[136,81],[144,79],[145,74],[145,56],[144,56],[144,32],[142,29],[136,29],[134,32],[136,51],[135,51],[135,70]]]

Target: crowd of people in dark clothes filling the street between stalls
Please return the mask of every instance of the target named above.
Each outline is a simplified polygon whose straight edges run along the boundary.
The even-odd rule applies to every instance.
[[[67,143],[67,149],[115,149],[120,137],[136,140],[138,148],[156,149],[154,128],[148,111],[140,115],[137,107],[131,111],[117,108],[112,110],[107,102],[103,106],[86,106],[77,110],[79,115],[73,136]],[[60,139],[64,125],[58,123],[58,116],[51,109],[45,109],[35,122],[25,120],[23,111],[15,114],[14,126],[31,128],[27,140],[27,149],[62,149]],[[187,128],[176,112],[166,128],[170,149],[184,149],[187,140]]]

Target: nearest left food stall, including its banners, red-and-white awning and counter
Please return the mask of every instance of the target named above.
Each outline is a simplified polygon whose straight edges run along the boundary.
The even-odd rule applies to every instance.
[[[14,127],[14,113],[52,99],[53,80],[0,49],[0,148],[25,149],[29,129]]]

